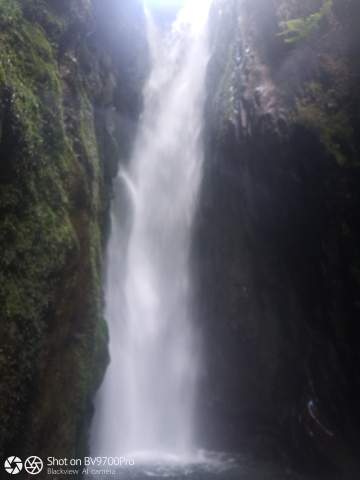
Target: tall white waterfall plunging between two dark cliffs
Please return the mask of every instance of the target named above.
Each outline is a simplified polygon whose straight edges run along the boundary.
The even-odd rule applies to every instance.
[[[201,353],[189,251],[203,160],[208,10],[209,1],[185,2],[166,32],[147,14],[144,111],[129,169],[115,181],[105,311],[111,363],[96,402],[97,455],[182,454],[196,435]]]

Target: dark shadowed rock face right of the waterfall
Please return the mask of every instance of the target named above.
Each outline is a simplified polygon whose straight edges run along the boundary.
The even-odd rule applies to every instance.
[[[356,0],[215,1],[194,247],[203,438],[350,478],[360,428],[358,13]]]

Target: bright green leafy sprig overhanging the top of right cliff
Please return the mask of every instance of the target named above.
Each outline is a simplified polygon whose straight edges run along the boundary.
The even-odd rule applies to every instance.
[[[294,44],[306,40],[316,31],[321,21],[328,15],[333,5],[333,0],[325,0],[323,6],[316,13],[307,17],[293,18],[280,24],[282,31],[279,36],[284,37],[285,43]]]

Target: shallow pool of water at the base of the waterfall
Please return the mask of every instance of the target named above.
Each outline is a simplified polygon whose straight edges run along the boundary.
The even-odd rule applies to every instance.
[[[91,475],[96,480],[320,480],[303,477],[290,469],[259,463],[241,455],[199,452],[195,457],[134,457],[135,465],[104,467]]]

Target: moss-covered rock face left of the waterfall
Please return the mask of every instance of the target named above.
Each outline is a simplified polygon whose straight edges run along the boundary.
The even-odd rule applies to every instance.
[[[108,362],[111,180],[141,109],[143,20],[136,1],[0,1],[1,457],[87,447]]]

